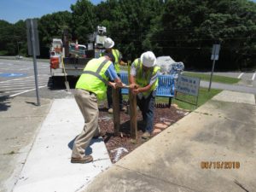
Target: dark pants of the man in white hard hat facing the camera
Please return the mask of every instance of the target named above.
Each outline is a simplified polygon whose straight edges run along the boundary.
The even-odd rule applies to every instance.
[[[152,133],[154,128],[154,96],[152,96],[152,93],[148,96],[147,99],[144,97],[139,99],[137,97],[137,106],[143,113],[143,121],[146,124],[145,131]]]

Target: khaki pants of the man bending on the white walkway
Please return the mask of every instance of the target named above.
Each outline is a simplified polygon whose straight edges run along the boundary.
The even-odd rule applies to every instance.
[[[87,90],[76,89],[75,100],[84,116],[84,129],[73,143],[73,158],[83,158],[90,140],[98,133],[99,110],[97,97]]]

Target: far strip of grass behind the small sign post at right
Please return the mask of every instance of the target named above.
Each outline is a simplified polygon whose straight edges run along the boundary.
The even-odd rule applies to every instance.
[[[189,76],[189,77],[195,77],[200,78],[204,81],[210,81],[211,75],[208,74],[202,74],[202,73],[191,73],[191,72],[185,72],[183,75]],[[236,84],[240,81],[240,79],[236,78],[230,78],[230,77],[224,77],[219,75],[212,76],[212,82],[222,83],[222,84]]]

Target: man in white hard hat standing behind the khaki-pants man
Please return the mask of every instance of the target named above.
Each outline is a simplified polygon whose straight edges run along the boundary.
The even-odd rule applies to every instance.
[[[105,53],[112,53],[114,58],[115,58],[115,62],[113,63],[113,66],[115,68],[116,73],[118,74],[118,76],[120,77],[120,67],[119,65],[122,66],[127,66],[127,63],[125,63],[124,61],[122,61],[122,54],[120,53],[120,51],[118,49],[113,49],[113,45],[114,42],[112,40],[112,38],[106,38],[104,41],[104,47],[105,47]],[[104,53],[102,53],[103,55]],[[108,113],[113,113],[113,100],[112,100],[112,87],[108,86],[108,90],[107,90],[107,98],[108,98]],[[121,94],[121,90],[119,90],[119,108],[121,110],[125,110],[125,108],[123,108],[123,96]]]

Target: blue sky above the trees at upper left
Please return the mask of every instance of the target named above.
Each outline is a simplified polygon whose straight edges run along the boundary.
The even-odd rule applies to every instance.
[[[91,0],[97,4],[102,0]],[[0,0],[0,20],[15,23],[19,20],[40,18],[58,11],[71,11],[77,0]]]

